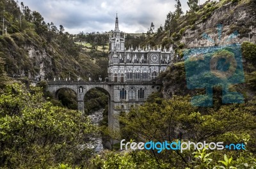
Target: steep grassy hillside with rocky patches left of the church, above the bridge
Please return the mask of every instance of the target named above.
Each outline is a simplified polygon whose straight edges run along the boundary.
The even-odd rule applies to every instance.
[[[7,26],[7,33],[0,24],[0,57],[10,77],[41,77],[44,79],[97,77],[100,67],[92,57],[84,54],[63,26],[45,23],[40,13],[31,11],[22,3],[1,0],[0,17]],[[4,32],[4,34],[3,34]]]

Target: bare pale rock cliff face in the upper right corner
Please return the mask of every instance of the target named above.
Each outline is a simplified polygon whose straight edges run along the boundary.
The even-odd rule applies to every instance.
[[[218,4],[215,4],[218,6]],[[256,41],[256,1],[241,1],[239,3],[227,3],[212,11],[209,18],[204,15],[198,18],[193,28],[187,29],[180,39],[186,48],[209,47],[213,45],[226,45],[227,43],[243,43],[249,40]],[[216,26],[223,26],[221,40],[218,40]],[[227,41],[229,36],[237,31],[238,36]],[[207,33],[215,43],[202,37]]]

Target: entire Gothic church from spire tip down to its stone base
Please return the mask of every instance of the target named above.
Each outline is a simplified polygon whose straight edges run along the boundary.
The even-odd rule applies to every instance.
[[[166,48],[125,49],[125,34],[119,30],[116,15],[115,31],[109,34],[108,78],[111,84],[109,119],[131,107],[143,105],[148,96],[161,90],[161,84],[152,82],[173,61],[173,50]],[[116,118],[109,127],[119,128]]]

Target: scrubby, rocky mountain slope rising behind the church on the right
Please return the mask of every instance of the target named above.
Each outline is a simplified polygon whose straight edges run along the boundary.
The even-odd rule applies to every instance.
[[[141,45],[162,45],[182,48],[223,45],[227,43],[230,34],[237,31],[239,36],[231,42],[256,41],[256,1],[254,0],[222,0],[207,1],[198,11],[188,11],[181,17],[168,13],[165,29],[149,36]],[[218,40],[216,26],[222,24],[221,40],[211,43],[202,37],[209,34],[213,40]],[[161,29],[159,29],[161,30]],[[182,55],[179,52],[179,55]]]

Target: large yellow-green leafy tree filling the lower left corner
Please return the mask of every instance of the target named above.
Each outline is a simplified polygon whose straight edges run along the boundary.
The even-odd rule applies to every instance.
[[[95,133],[89,119],[44,101],[38,87],[6,86],[0,95],[0,128],[0,167],[78,165],[92,154],[85,144]]]

